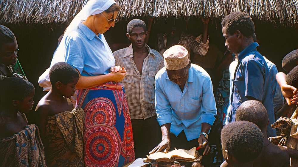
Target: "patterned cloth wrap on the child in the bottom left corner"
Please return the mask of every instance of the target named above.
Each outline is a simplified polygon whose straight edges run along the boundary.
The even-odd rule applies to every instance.
[[[0,152],[0,166],[46,166],[44,146],[34,124],[12,137],[0,138]]]

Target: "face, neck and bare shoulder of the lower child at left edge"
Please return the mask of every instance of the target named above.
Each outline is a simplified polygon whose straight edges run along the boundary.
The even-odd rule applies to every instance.
[[[29,96],[21,100],[7,100],[1,97],[0,102],[0,138],[7,138],[20,132],[27,126],[27,122],[21,113],[28,113],[32,110],[35,90]]]

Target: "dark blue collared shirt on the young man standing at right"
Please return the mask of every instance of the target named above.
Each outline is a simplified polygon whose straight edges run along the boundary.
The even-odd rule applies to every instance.
[[[254,97],[262,101],[267,110],[268,137],[276,136],[276,130],[270,126],[274,123],[274,111],[269,69],[265,59],[257,51],[257,46],[259,46],[258,43],[254,42],[238,55],[239,61],[235,74],[232,76],[231,107],[227,118],[229,122],[234,122],[237,108],[248,100],[248,96]]]

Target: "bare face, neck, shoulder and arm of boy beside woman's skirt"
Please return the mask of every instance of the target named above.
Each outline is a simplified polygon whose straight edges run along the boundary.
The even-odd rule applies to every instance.
[[[34,117],[42,140],[44,140],[46,134],[46,119],[48,116],[73,110],[74,107],[69,98],[75,94],[75,85],[78,80],[79,78],[73,78],[67,84],[60,81],[56,82],[55,85],[52,85],[52,89],[38,102]]]

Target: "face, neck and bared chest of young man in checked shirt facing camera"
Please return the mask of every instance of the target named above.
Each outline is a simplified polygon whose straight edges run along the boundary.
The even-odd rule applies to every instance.
[[[143,27],[134,27],[130,34],[126,34],[127,38],[131,40],[134,52],[134,63],[138,69],[140,76],[142,76],[143,62],[148,56],[149,52],[145,47],[147,31]]]

